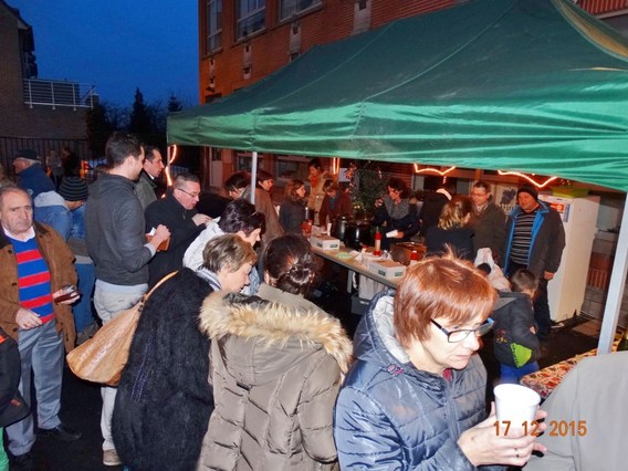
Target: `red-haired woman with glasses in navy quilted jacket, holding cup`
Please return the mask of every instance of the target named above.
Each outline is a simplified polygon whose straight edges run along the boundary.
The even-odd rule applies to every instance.
[[[343,470],[523,465],[543,451],[523,431],[498,436],[486,415],[486,370],[475,352],[495,297],[480,271],[448,253],[423,259],[396,293],[374,299],[336,402]]]

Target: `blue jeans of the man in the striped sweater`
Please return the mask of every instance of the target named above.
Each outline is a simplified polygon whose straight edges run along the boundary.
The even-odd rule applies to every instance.
[[[57,427],[61,408],[61,381],[63,379],[63,339],[56,333],[56,322],[18,331],[18,348],[22,360],[20,393],[29,406],[31,398],[31,371],[38,399],[38,427]],[[35,442],[33,415],[7,427],[9,451],[14,456],[31,451]]]

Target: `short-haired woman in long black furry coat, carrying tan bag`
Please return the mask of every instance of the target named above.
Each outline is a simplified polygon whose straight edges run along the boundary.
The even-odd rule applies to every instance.
[[[240,290],[257,255],[229,234],[210,241],[203,259],[198,272],[182,269],[155,290],[137,324],[112,419],[116,450],[132,471],[196,468],[213,410],[200,307],[214,290]]]

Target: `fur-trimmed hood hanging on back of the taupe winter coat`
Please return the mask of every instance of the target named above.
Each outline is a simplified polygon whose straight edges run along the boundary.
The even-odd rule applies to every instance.
[[[260,297],[218,292],[205,300],[200,329],[220,345],[229,373],[239,383],[269,383],[324,350],[346,371],[352,342],[337,318]]]

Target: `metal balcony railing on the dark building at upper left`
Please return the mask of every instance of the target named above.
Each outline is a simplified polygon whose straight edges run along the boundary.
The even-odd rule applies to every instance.
[[[24,78],[24,103],[33,106],[92,108],[95,104],[95,87],[76,82]]]

